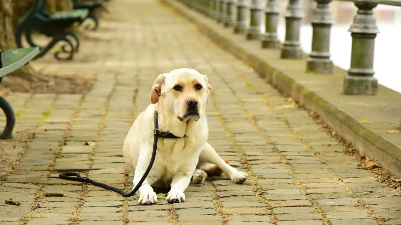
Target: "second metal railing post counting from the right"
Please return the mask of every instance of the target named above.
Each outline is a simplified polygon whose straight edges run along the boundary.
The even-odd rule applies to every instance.
[[[334,23],[329,8],[331,0],[315,1],[318,5],[311,19],[312,51],[306,63],[306,71],[330,74],[333,72],[333,61],[330,60],[330,30]]]

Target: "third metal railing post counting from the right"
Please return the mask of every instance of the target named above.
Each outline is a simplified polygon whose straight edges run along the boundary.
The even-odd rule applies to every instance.
[[[301,59],[304,54],[300,47],[300,30],[303,14],[299,0],[289,0],[285,17],[286,40],[281,50],[281,58]]]

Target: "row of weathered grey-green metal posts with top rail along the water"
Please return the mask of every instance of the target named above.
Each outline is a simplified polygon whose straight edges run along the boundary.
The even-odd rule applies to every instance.
[[[286,37],[280,43],[277,36],[280,0],[180,0],[190,8],[214,18],[233,32],[244,33],[248,40],[261,40],[262,48],[281,49],[281,58],[302,59],[300,28],[303,18],[299,0],[288,0],[285,12]],[[331,74],[330,30],[334,23],[329,4],[332,0],[315,0],[312,23],[312,50],[306,62],[306,71]],[[344,94],[377,94],[378,82],[373,77],[375,38],[379,33],[373,8],[378,4],[401,6],[401,0],[344,0],[354,2],[358,8],[349,31],[352,37],[351,63],[348,76],[344,78]],[[265,32],[260,32],[263,12]],[[249,22],[248,22],[249,18]],[[248,25],[249,24],[249,25]]]

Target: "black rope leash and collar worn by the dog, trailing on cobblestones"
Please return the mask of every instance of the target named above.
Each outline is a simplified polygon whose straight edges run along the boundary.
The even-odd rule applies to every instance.
[[[148,168],[146,169],[146,171],[145,171],[144,175],[142,176],[141,180],[139,181],[139,183],[129,193],[125,193],[123,190],[118,189],[116,187],[111,187],[109,185],[96,182],[94,180],[89,179],[88,177],[82,177],[81,175],[79,175],[79,173],[60,173],[59,174],[59,178],[60,179],[64,179],[64,180],[69,180],[69,181],[78,181],[78,182],[90,183],[90,184],[95,185],[97,187],[102,187],[102,188],[107,189],[109,191],[117,192],[117,193],[119,193],[120,195],[122,195],[124,197],[131,197],[132,195],[134,195],[138,191],[139,187],[141,187],[142,183],[144,183],[146,177],[148,177],[150,169],[152,169],[152,166],[153,166],[153,163],[154,163],[154,159],[156,158],[156,150],[157,150],[158,138],[159,137],[160,138],[168,138],[168,139],[181,138],[181,137],[177,137],[177,136],[173,135],[170,132],[159,131],[159,122],[158,122],[158,113],[157,113],[157,111],[154,111],[153,137],[154,137],[154,139],[153,139],[153,151],[152,151],[152,157],[150,158],[150,162],[149,162]],[[185,135],[184,135],[184,137],[185,137]]]

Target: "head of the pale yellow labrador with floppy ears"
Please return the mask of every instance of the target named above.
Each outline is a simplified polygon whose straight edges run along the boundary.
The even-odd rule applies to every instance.
[[[156,78],[150,101],[152,104],[159,102],[180,121],[197,121],[205,113],[211,90],[206,75],[194,69],[179,68]]]

